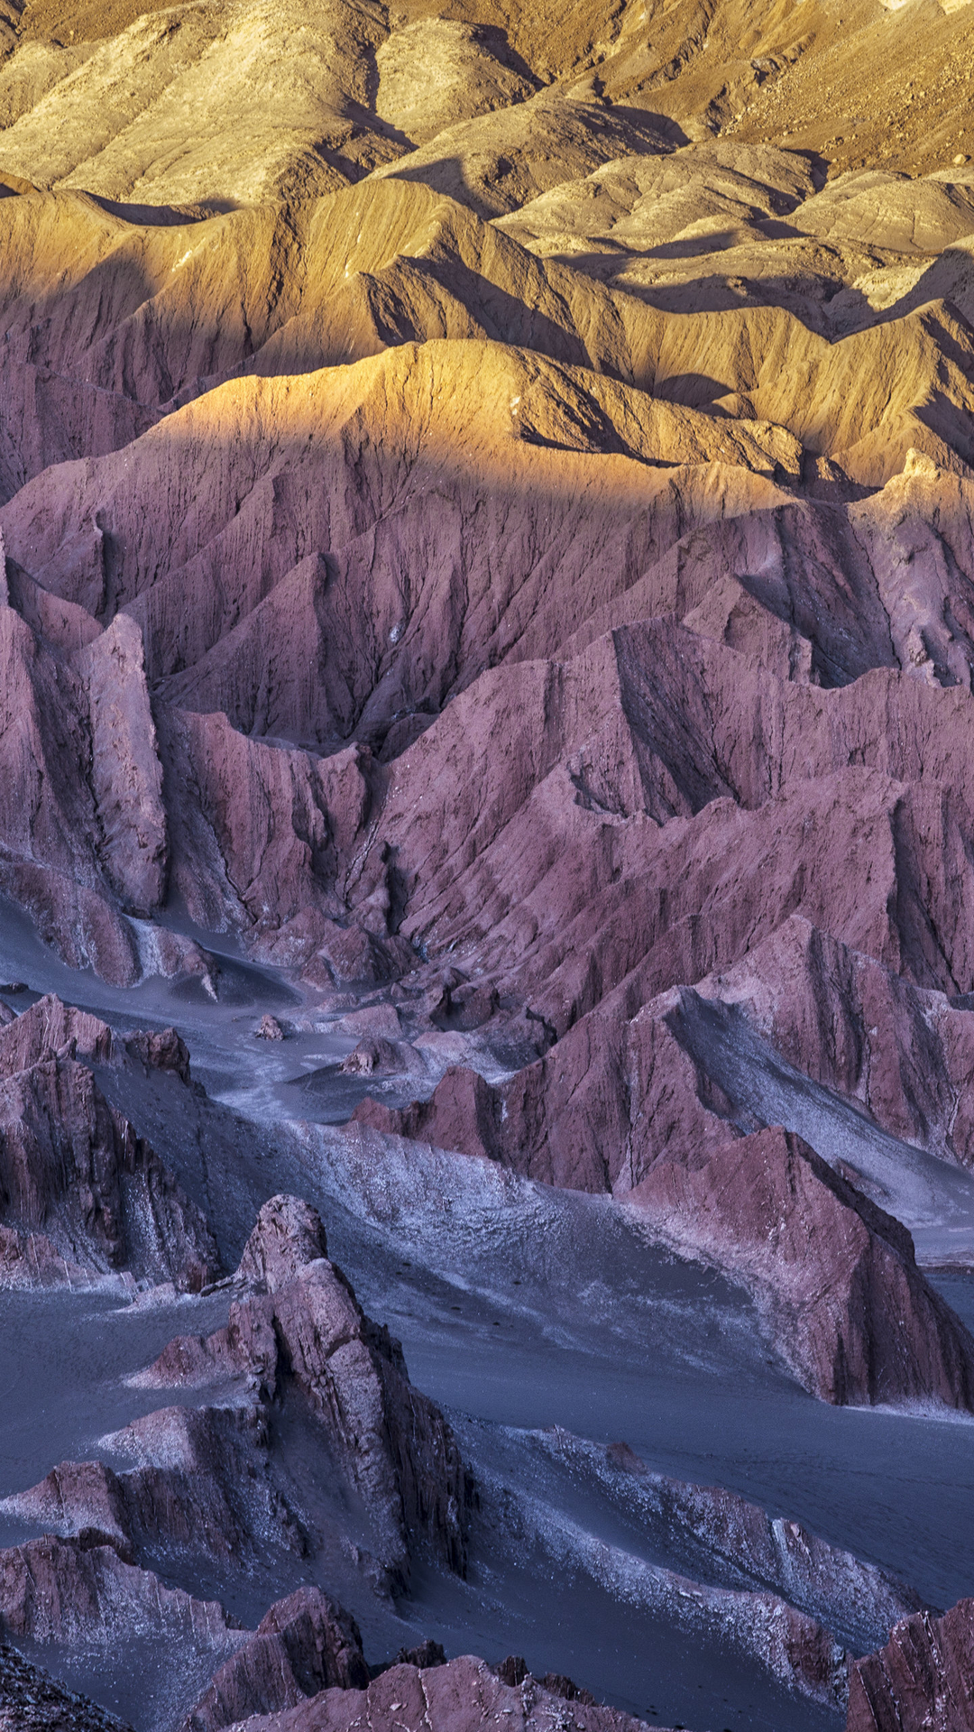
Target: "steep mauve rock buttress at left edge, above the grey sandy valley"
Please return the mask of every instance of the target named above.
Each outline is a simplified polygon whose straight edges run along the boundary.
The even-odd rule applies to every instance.
[[[85,618],[94,634],[76,632],[50,598],[36,603],[43,585],[24,578],[21,596],[14,594],[0,537],[7,790],[0,887],[29,911],[64,961],[130,986],[140,973],[203,972],[205,965],[191,940],[163,928],[140,932],[127,918],[127,911],[158,909],[163,897],[161,766],[139,632],[128,624],[99,632],[85,611],[101,604],[90,585],[104,584],[102,532],[92,530],[88,540],[97,573],[87,568],[83,604],[61,611]],[[73,643],[78,636],[80,644]]]

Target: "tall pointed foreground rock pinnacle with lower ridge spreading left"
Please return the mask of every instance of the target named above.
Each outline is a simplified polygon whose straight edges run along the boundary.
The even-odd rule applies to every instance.
[[[303,1422],[317,1472],[366,1512],[386,1592],[404,1592],[416,1550],[463,1574],[470,1474],[399,1342],[328,1261],[317,1211],[293,1197],[265,1204],[231,1289],[225,1328],[173,1339],[130,1379],[166,1405],[102,1438],[109,1460],[62,1462],[9,1496],[7,1516],[83,1548],[109,1545],[125,1564],[159,1552],[256,1559],[262,1547],[307,1557],[315,1540],[284,1490],[277,1436]],[[173,1405],[180,1391],[191,1405]],[[52,1638],[31,1618],[19,1633]]]

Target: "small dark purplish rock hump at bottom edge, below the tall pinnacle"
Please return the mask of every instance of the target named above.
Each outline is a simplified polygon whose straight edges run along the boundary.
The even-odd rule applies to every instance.
[[[220,1732],[251,1715],[296,1708],[321,1690],[364,1690],[367,1684],[355,1619],[317,1588],[298,1588],[220,1666],[182,1732]]]

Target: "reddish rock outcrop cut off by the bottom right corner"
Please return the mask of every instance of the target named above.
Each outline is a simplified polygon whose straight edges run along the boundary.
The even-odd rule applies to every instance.
[[[849,1668],[847,1732],[967,1732],[974,1722],[974,1600],[905,1618]]]

